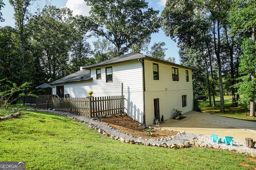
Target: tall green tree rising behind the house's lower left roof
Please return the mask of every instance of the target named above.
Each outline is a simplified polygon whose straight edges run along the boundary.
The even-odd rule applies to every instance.
[[[32,44],[40,51],[40,63],[49,78],[56,80],[65,75],[74,32],[72,12],[68,8],[49,6],[42,14],[30,20]]]

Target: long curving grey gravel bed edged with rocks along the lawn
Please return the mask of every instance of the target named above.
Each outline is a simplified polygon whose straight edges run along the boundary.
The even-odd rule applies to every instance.
[[[186,147],[205,147],[205,148],[212,148],[212,149],[222,149],[228,150],[232,152],[239,152],[243,154],[250,154],[251,156],[256,157],[256,149],[246,147],[246,143],[244,141],[237,141],[234,140],[233,146],[226,145],[225,143],[212,142],[212,137],[208,135],[201,135],[201,134],[194,134],[194,133],[186,133],[186,132],[179,132],[177,135],[172,136],[170,138],[163,138],[163,139],[142,139],[142,138],[135,138],[132,135],[122,133],[107,125],[104,122],[101,122],[100,119],[89,119],[84,116],[74,115],[71,113],[61,112],[61,111],[54,111],[54,110],[40,110],[40,109],[27,109],[33,111],[45,111],[51,112],[63,116],[69,116],[72,119],[76,119],[77,121],[81,121],[84,123],[88,123],[88,126],[92,129],[96,129],[99,132],[103,132],[103,134],[108,134],[112,139],[114,137],[118,137],[119,140],[122,142],[126,142],[125,139],[133,140],[136,144],[148,145],[148,146],[158,146],[158,147],[170,147],[170,148],[186,148]],[[115,138],[115,139],[118,139]],[[222,139],[223,141],[223,139]]]

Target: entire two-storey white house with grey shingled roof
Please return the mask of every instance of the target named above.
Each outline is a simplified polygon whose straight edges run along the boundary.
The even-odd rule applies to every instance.
[[[56,80],[51,84],[53,94],[71,98],[125,97],[128,116],[152,125],[154,118],[173,118],[173,109],[182,113],[193,109],[192,68],[158,60],[138,53],[129,53],[81,67],[80,71]],[[68,96],[68,95],[66,95]]]

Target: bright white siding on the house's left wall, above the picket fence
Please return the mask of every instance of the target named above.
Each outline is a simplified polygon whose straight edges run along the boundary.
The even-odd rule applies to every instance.
[[[106,82],[106,67],[109,66],[100,67],[101,79],[96,79],[97,68],[93,68],[92,81],[64,84],[64,93],[70,94],[71,98],[86,97],[90,90],[94,92],[94,97],[117,96],[121,95],[123,83],[125,112],[133,119],[143,122],[142,64],[131,61],[112,65],[113,82]],[[56,94],[56,88],[52,92]]]

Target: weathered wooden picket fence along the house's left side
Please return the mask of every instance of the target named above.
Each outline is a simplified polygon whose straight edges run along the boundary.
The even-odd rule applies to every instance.
[[[49,108],[89,118],[99,115],[114,115],[124,111],[124,96],[54,98],[49,103],[52,104],[49,104],[51,106]]]

